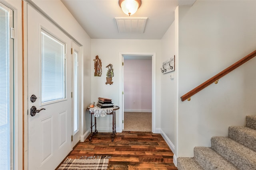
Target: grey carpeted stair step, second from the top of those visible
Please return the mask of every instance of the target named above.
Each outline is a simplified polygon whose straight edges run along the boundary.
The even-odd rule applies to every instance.
[[[228,137],[256,151],[256,130],[245,126],[230,126]]]

